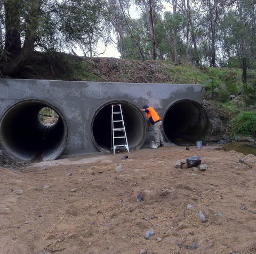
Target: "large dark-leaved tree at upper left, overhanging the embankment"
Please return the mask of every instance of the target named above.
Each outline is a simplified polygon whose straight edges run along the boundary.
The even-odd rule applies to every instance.
[[[90,55],[102,38],[101,0],[3,0],[5,74],[18,72],[35,47],[83,45]]]

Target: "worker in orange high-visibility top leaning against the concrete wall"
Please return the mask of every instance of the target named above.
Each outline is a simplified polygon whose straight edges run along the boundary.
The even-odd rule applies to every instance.
[[[164,146],[164,139],[161,133],[162,120],[161,117],[157,114],[153,107],[149,107],[147,104],[140,109],[142,112],[146,112],[149,122],[153,125],[154,130],[154,141],[157,147]]]

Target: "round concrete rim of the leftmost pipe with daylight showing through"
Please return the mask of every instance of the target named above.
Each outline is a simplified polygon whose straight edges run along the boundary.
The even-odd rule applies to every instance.
[[[42,103],[45,107],[50,107],[51,109],[53,109],[58,115],[59,117],[61,118],[62,122],[63,122],[63,127],[64,127],[64,135],[63,135],[63,140],[60,144],[61,146],[61,149],[59,151],[59,153],[51,158],[48,158],[48,159],[42,159],[42,161],[46,161],[46,160],[54,160],[54,159],[57,159],[62,153],[63,153],[63,150],[66,148],[67,146],[67,142],[68,142],[68,125],[67,125],[67,121],[66,121],[66,118],[63,116],[63,114],[61,113],[61,111],[58,109],[58,107],[55,107],[53,106],[51,103],[45,101],[45,100],[39,100],[39,99],[25,99],[25,100],[20,100],[14,104],[12,104],[11,106],[9,106],[5,111],[4,113],[2,114],[1,118],[0,118],[0,148],[3,150],[3,153],[6,154],[9,158],[11,159],[14,159],[14,160],[23,160],[23,159],[20,159],[16,156],[14,156],[12,153],[10,153],[8,151],[8,149],[6,149],[7,145],[6,145],[6,142],[4,141],[4,138],[3,138],[3,133],[2,133],[2,123],[3,123],[3,120],[5,118],[5,116],[10,113],[10,111],[12,111],[13,108],[15,108],[16,106],[18,105],[22,105],[22,104],[26,104],[26,103],[33,103],[33,102],[36,102],[36,103]],[[58,120],[59,121],[59,120]],[[56,122],[57,123],[57,122]],[[56,124],[54,123],[54,124]],[[32,160],[32,159],[30,159]],[[30,161],[29,160],[29,161]]]

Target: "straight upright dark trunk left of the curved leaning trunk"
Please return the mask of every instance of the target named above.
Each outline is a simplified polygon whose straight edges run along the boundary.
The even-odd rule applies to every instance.
[[[21,50],[20,15],[21,6],[17,0],[5,0],[5,45],[4,49],[15,58]]]

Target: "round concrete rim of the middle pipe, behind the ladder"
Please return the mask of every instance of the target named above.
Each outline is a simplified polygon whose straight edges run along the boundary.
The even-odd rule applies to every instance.
[[[105,104],[102,104],[101,106],[99,106],[96,111],[95,111],[95,114],[93,115],[93,118],[91,120],[91,140],[93,142],[93,145],[99,150],[101,151],[102,153],[108,153],[110,154],[111,153],[111,149],[108,150],[108,149],[103,149],[101,146],[98,145],[97,141],[95,140],[94,138],[94,135],[93,135],[93,123],[94,123],[94,120],[95,120],[95,117],[97,116],[97,114],[101,111],[101,109],[103,107],[106,107],[107,105],[109,104],[118,104],[118,103],[125,103],[125,104],[128,104],[129,106],[131,107],[134,107],[135,109],[137,109],[142,117],[142,121],[143,121],[143,138],[141,139],[139,145],[133,149],[137,150],[137,149],[140,149],[142,146],[143,146],[143,143],[145,142],[146,140],[146,136],[147,136],[147,122],[146,122],[146,119],[145,117],[143,116],[142,112],[140,111],[139,107],[135,106],[134,104],[132,103],[129,103],[129,101],[126,101],[126,100],[110,100],[110,101],[107,101]],[[128,144],[129,145],[129,144]],[[130,148],[129,148],[130,149]]]

